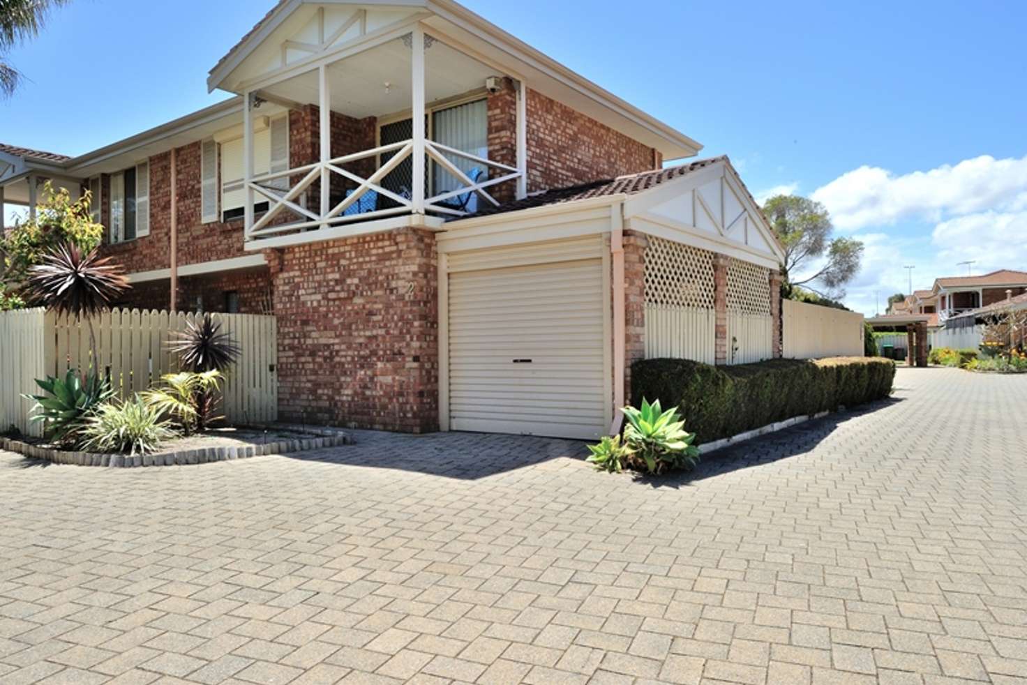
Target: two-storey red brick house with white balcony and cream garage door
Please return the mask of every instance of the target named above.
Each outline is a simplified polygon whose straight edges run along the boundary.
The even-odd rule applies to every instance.
[[[282,0],[208,85],[75,158],[0,148],[0,189],[91,190],[118,304],[273,312],[283,419],[593,437],[634,359],[781,354],[727,158],[663,169],[701,146],[451,0]]]

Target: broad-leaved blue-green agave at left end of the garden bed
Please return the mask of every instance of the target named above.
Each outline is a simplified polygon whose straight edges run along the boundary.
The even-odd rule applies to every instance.
[[[77,444],[82,422],[114,394],[110,382],[96,369],[90,369],[84,379],[69,369],[64,379],[50,376],[45,381],[37,379],[36,384],[46,394],[23,395],[36,401],[31,420],[43,422],[46,434],[61,444]]]

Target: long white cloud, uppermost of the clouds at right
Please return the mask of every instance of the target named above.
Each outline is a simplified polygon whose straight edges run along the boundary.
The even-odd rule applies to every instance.
[[[879,166],[861,166],[817,188],[835,226],[854,230],[916,218],[941,222],[974,213],[1027,210],[1027,156],[995,159],[982,155],[953,165],[896,176]]]

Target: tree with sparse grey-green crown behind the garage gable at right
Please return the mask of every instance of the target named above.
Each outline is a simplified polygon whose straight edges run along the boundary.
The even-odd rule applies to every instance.
[[[802,286],[822,297],[843,298],[845,283],[860,272],[863,243],[853,238],[832,238],[834,226],[827,208],[806,197],[775,195],[766,201],[763,212],[785,246],[786,295]],[[794,278],[802,267],[817,264],[817,260],[823,264],[811,275]]]

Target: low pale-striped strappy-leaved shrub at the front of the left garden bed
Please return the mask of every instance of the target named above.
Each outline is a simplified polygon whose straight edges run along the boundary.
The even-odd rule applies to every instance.
[[[175,436],[160,411],[141,396],[123,403],[101,405],[85,419],[82,428],[86,450],[147,454]]]

